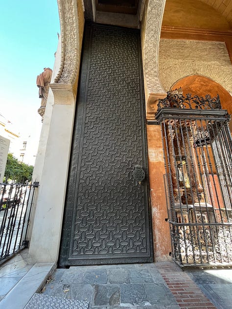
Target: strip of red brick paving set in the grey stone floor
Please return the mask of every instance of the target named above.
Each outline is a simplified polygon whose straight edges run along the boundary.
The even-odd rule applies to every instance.
[[[182,309],[215,309],[188,274],[172,263],[156,264],[165,283]]]

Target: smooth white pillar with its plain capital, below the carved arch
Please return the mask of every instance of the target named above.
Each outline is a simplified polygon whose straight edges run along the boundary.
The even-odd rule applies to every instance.
[[[54,84],[52,88],[55,104],[29,246],[29,256],[37,262],[56,262],[58,258],[75,110],[70,85],[64,89],[64,85]]]

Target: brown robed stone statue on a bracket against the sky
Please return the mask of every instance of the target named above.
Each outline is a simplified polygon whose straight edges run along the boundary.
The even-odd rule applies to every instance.
[[[49,67],[44,68],[44,72],[37,76],[36,85],[39,87],[39,98],[41,98],[41,107],[38,113],[42,116],[42,121],[46,108],[46,100],[49,90],[49,83],[51,81],[52,69]]]

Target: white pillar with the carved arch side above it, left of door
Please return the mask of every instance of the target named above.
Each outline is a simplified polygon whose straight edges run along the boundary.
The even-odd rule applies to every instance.
[[[81,0],[58,0],[58,7],[61,60],[57,76],[50,84],[54,100],[47,119],[45,149],[38,150],[42,152],[42,164],[36,167],[40,186],[28,256],[33,262],[57,262],[59,256],[84,31]],[[43,125],[47,112],[46,109]]]

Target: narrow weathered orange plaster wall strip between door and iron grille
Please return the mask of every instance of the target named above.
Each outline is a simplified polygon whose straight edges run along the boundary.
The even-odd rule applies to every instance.
[[[156,262],[169,260],[171,251],[169,223],[163,175],[165,174],[161,127],[147,125],[148,165],[153,226],[154,258]]]

